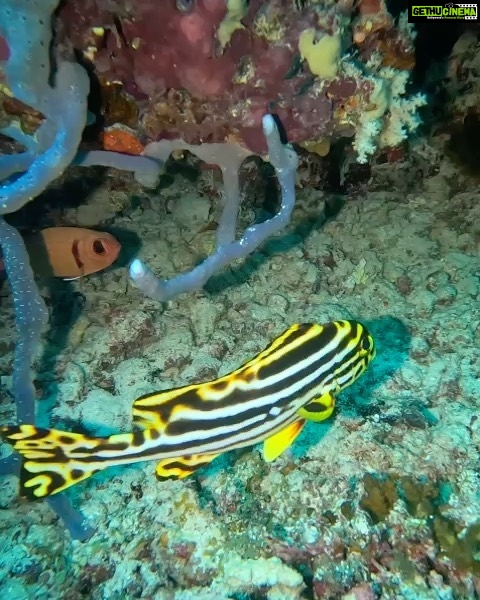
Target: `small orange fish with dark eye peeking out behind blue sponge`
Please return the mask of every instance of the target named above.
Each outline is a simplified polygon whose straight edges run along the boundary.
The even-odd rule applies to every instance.
[[[121,249],[112,234],[84,227],[49,227],[26,235],[24,241],[36,275],[67,280],[106,269]]]

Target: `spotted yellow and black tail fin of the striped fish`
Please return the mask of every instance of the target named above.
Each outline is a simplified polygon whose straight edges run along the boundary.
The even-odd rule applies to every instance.
[[[20,496],[28,500],[62,492],[104,468],[98,461],[88,461],[105,442],[99,438],[33,425],[2,427],[0,434],[23,457]],[[79,458],[72,458],[72,451]]]

